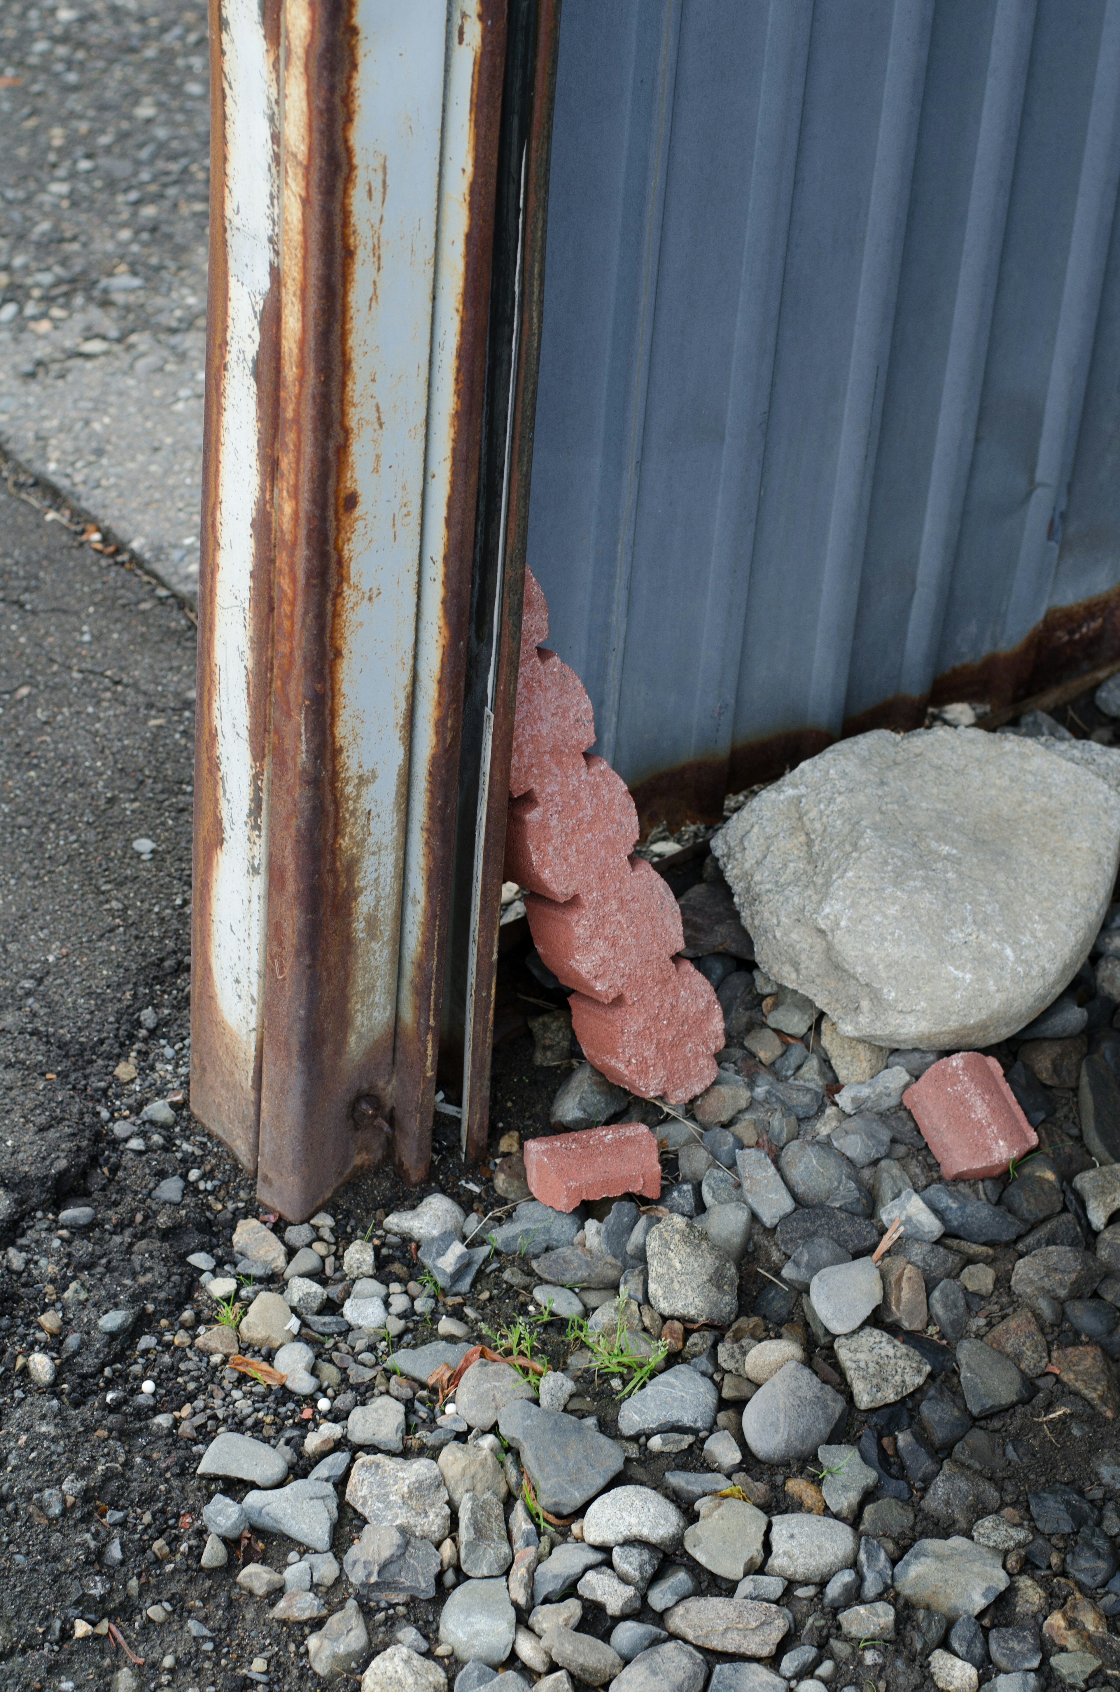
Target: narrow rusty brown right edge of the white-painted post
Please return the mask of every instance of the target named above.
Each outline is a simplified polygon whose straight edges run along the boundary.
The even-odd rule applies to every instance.
[[[470,190],[464,252],[458,367],[452,420],[452,472],[443,523],[443,601],[440,623],[445,662],[433,700],[431,721],[415,743],[428,758],[428,810],[425,814],[425,880],[416,970],[398,1000],[394,1156],[406,1181],[421,1181],[431,1157],[431,1115],[443,971],[447,961],[452,846],[462,734],[464,668],[470,570],[479,487],[479,443],[486,387],[486,330],[494,247],[494,186],[497,130],[506,58],[506,3],[484,0],[482,47],[470,90]],[[464,19],[458,24],[464,41]]]

